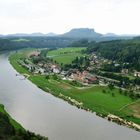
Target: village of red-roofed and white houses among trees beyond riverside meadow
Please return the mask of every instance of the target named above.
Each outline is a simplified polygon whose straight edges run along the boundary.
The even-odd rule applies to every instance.
[[[81,86],[90,86],[93,84],[107,86],[109,84],[112,84],[118,88],[125,88],[123,87],[123,84],[120,85],[120,81],[118,79],[114,79],[112,77],[107,77],[106,75],[100,74],[102,73],[100,69],[104,64],[110,65],[113,63],[114,67],[118,67],[120,64],[116,62],[112,62],[111,60],[99,57],[96,54],[92,54],[88,58],[88,67],[83,71],[79,71],[79,69],[77,68],[69,68],[68,70],[64,70],[62,66],[56,61],[53,61],[49,58],[45,58],[45,60],[42,59],[40,52],[41,51],[39,50],[33,51],[28,55],[27,58],[25,58],[24,60],[20,60],[19,64],[28,69],[28,71],[33,74],[40,74],[46,76],[55,74],[61,80],[77,81],[80,83]],[[121,69],[122,77],[127,77],[128,74],[128,69]],[[133,77],[140,77],[140,72],[134,71]],[[133,86],[133,90],[139,91],[140,85]]]

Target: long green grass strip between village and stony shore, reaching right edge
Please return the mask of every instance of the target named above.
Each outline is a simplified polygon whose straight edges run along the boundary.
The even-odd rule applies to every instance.
[[[32,75],[26,69],[18,65],[17,60],[20,57],[22,57],[20,54],[11,55],[11,64],[20,73],[29,74],[29,80],[44,91],[49,91],[57,97],[60,93],[69,96],[78,102],[82,102],[84,108],[99,114],[107,115],[111,113],[140,124],[140,101],[132,100],[130,97],[124,96],[118,89],[111,90],[108,87],[101,86],[80,89],[70,85],[64,80],[54,80],[53,78],[46,79],[45,76]]]

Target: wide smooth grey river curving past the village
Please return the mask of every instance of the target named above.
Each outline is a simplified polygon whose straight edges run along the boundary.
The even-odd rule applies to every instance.
[[[0,103],[24,128],[49,140],[140,140],[140,132],[77,109],[16,73],[0,54]]]

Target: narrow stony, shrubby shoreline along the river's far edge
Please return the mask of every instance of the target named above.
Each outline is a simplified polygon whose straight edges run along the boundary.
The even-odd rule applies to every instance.
[[[25,74],[27,74],[27,73],[24,73],[23,74],[23,73],[20,73],[19,71],[17,71],[17,69],[11,63],[10,55],[8,57],[8,61],[11,64],[11,66],[16,70],[16,72],[18,72],[19,74],[21,74],[23,76]],[[41,90],[45,91],[47,94],[49,93],[49,94],[51,94],[51,95],[53,95],[53,96],[55,96],[57,98],[60,98],[60,99],[62,99],[64,101],[66,101],[67,103],[69,103],[69,104],[77,107],[78,109],[82,109],[82,110],[85,110],[85,111],[88,111],[88,112],[91,112],[91,113],[95,113],[97,116],[102,117],[102,118],[104,118],[104,119],[106,119],[108,121],[115,122],[115,123],[117,123],[119,125],[123,125],[123,126],[126,126],[128,128],[132,128],[132,129],[140,132],[140,125],[138,125],[136,123],[133,123],[132,121],[127,121],[125,119],[120,118],[119,116],[116,116],[116,115],[113,115],[113,114],[110,114],[110,113],[108,113],[108,114],[105,115],[105,114],[101,114],[101,113],[98,113],[96,111],[90,110],[89,108],[83,106],[83,103],[82,102],[78,102],[77,100],[72,99],[69,96],[65,96],[65,95],[63,95],[61,93],[59,93],[59,95],[56,95],[56,94],[54,94],[54,91],[52,91],[51,89],[49,89],[49,88],[44,89],[43,87],[35,84],[31,79],[29,79],[29,77],[30,76],[25,77],[25,78],[28,79],[30,82],[32,82],[35,86],[37,86]]]

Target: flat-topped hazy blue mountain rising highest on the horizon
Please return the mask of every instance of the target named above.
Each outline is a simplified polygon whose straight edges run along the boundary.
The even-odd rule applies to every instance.
[[[96,39],[96,38],[101,37],[102,34],[95,32],[94,29],[77,28],[77,29],[72,29],[71,31],[62,34],[61,36],[68,37],[68,38],[92,38],[92,39]]]

